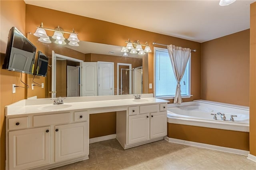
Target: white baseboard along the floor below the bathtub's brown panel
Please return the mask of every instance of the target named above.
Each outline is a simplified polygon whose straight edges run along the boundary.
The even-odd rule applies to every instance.
[[[211,150],[218,150],[221,152],[228,152],[228,153],[232,153],[232,154],[239,154],[239,155],[244,155],[244,156],[248,156],[248,154],[249,154],[249,151],[247,151],[247,150],[227,148],[227,147],[223,147],[223,146],[216,146],[216,145],[212,145],[212,144],[205,144],[205,143],[199,143],[199,142],[191,142],[188,140],[169,138],[168,136],[165,136],[164,139],[167,140],[168,142],[172,142],[172,143],[184,144],[184,145],[188,145],[188,146],[196,146],[199,148],[206,148],[206,149],[211,149]]]

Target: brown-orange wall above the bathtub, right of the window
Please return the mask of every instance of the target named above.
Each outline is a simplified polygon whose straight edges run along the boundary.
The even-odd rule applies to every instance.
[[[249,106],[250,30],[202,43],[201,99]]]

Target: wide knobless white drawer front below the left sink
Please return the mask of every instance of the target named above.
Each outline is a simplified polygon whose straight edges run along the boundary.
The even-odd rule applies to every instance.
[[[52,115],[39,115],[33,117],[33,126],[45,126],[70,122],[70,113],[59,113]]]

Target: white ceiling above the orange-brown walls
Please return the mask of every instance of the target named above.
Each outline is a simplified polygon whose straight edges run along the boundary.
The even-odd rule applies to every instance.
[[[250,28],[250,4],[236,0],[24,0],[26,4],[168,36],[206,42]],[[124,33],[125,34],[125,33]]]

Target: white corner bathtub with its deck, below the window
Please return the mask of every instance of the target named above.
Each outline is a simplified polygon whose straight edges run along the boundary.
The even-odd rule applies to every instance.
[[[222,121],[218,112],[224,113],[226,121]],[[234,121],[230,121],[230,115],[236,115]],[[184,102],[181,105],[168,104],[168,123],[191,125],[198,127],[219,128],[249,132],[249,107],[218,103],[205,100]]]

